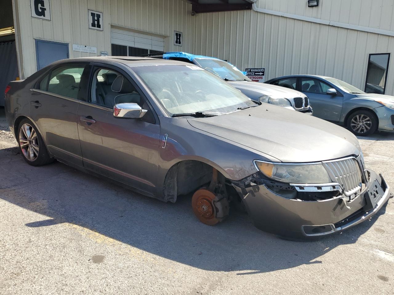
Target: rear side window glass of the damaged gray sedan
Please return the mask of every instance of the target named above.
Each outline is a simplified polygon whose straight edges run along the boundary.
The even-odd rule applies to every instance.
[[[77,99],[85,66],[61,66],[41,80],[39,89]],[[49,79],[49,83],[48,83]]]

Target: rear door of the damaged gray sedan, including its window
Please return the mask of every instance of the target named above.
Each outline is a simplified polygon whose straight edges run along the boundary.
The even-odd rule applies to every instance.
[[[31,91],[30,116],[53,155],[82,166],[76,114],[89,76],[87,65],[67,64],[51,70]]]

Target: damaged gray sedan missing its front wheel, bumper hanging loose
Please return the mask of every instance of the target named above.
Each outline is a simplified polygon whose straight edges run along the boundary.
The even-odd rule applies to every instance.
[[[165,202],[189,197],[207,225],[239,206],[259,229],[316,238],[368,220],[390,195],[346,129],[252,101],[190,63],[67,59],[9,83],[5,102],[28,164],[56,159]]]

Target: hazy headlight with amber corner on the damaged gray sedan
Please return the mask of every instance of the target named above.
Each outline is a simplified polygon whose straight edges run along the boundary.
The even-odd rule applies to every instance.
[[[271,164],[255,161],[257,168],[267,177],[284,183],[331,183],[322,164]]]

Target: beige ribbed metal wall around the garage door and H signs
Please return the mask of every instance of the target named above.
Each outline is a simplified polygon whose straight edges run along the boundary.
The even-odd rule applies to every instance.
[[[72,44],[111,52],[110,24],[162,35],[165,50],[192,51],[194,27],[191,4],[182,0],[51,0],[51,21],[32,18],[27,0],[15,0],[19,8],[25,77],[37,70],[34,39],[69,43],[70,57],[95,56],[75,52]],[[88,29],[87,9],[103,13],[104,31]],[[173,31],[183,33],[183,46],[173,45]]]

